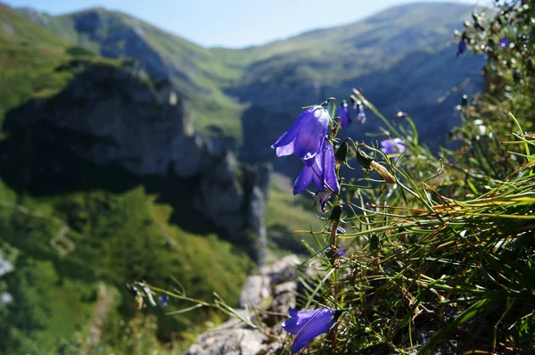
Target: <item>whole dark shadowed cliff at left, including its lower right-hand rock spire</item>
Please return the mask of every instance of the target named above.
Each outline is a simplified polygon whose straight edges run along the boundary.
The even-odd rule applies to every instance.
[[[178,210],[193,208],[262,264],[268,166],[240,164],[233,152],[220,147],[214,152],[213,144],[187,128],[182,103],[170,87],[155,90],[129,70],[110,65],[71,64],[83,71],[61,93],[32,100],[6,115],[4,129],[11,139],[4,142],[5,152],[16,156],[12,159],[21,168],[13,169],[18,176],[10,172],[12,184],[22,181],[20,188],[37,185],[39,194],[55,194],[58,191],[47,190],[43,180],[78,176],[79,171],[69,171],[82,161],[126,170],[142,184],[143,177],[173,178],[180,190],[187,181],[189,187],[178,201],[168,202]],[[60,157],[64,154],[70,161]],[[106,170],[99,171],[106,175]],[[120,177],[108,180],[127,188]],[[153,186],[155,193],[164,194],[157,183]],[[77,187],[70,180],[56,190]]]

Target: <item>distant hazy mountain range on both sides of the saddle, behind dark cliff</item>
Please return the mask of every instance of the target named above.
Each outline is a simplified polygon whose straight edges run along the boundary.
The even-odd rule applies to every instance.
[[[239,150],[244,161],[273,161],[270,144],[301,106],[347,97],[351,87],[361,88],[380,111],[408,111],[416,123],[429,125],[423,139],[433,150],[446,143],[444,132],[458,123],[452,107],[482,86],[484,59],[460,61],[451,44],[453,30],[472,10],[451,3],[399,5],[346,26],[241,50],[202,48],[103,8],[30,18],[103,57],[136,58],[152,78],[169,78],[202,135]],[[466,78],[467,86],[437,103]],[[430,120],[430,111],[440,115]],[[377,132],[375,123],[350,133]]]

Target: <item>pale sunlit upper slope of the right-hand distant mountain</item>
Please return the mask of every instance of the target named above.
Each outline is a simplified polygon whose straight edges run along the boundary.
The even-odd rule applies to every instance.
[[[412,51],[436,51],[449,45],[451,29],[472,8],[451,3],[400,5],[349,25],[248,48],[243,54],[253,58],[248,62],[254,65],[243,73],[241,84],[263,82],[268,73],[297,63],[301,69],[286,80],[317,78],[334,85],[341,78],[387,70]],[[226,55],[235,58],[231,52]]]

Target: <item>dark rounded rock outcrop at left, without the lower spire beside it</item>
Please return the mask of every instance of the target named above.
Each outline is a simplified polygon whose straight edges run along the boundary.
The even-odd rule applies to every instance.
[[[84,64],[80,64],[84,65]],[[156,92],[127,70],[87,68],[59,95],[33,100],[7,115],[5,128],[38,135],[47,125],[86,139],[65,148],[96,164],[117,162],[139,175],[198,175],[210,165],[206,144],[185,132],[182,103],[169,89]]]

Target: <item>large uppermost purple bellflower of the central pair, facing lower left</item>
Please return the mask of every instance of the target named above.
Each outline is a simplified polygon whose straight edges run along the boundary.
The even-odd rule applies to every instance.
[[[321,148],[330,121],[329,112],[322,106],[309,107],[271,147],[276,148],[279,157],[295,153],[300,159],[312,159]]]

